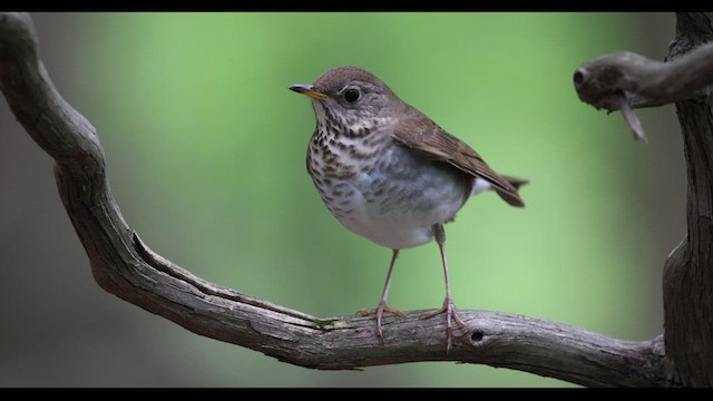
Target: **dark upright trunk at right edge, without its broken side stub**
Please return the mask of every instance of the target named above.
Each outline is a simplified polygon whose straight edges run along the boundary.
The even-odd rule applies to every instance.
[[[704,42],[706,42],[704,45]],[[713,13],[678,13],[672,63],[713,46]],[[710,58],[702,59],[707,67]],[[687,75],[684,74],[684,75]],[[685,79],[685,78],[684,78]],[[687,233],[664,266],[666,363],[683,385],[713,387],[713,96],[676,102],[688,190]]]

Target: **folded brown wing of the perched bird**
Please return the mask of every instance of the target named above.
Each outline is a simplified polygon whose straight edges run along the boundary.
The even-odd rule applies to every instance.
[[[401,119],[394,127],[393,139],[398,144],[481,177],[492,184],[492,188],[505,202],[517,207],[525,206],[515,186],[494,172],[473,148],[448,134],[414,108],[409,111],[410,118]]]

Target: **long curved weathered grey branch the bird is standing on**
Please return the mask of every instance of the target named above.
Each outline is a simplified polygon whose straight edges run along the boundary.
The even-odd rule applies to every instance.
[[[460,311],[468,331],[446,353],[445,322],[418,312],[385,319],[381,345],[369,317],[318,319],[206,282],[146,247],[124,221],[94,127],[52,86],[31,20],[0,14],[0,88],[32,138],[56,160],[62,203],[106,291],[192,332],[314,369],[460,361],[584,385],[672,385],[662,339],[631,342],[566,324]]]

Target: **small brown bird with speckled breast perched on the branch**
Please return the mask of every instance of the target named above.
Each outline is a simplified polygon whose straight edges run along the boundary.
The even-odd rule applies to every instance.
[[[404,314],[387,303],[401,250],[438,244],[446,297],[420,315],[446,315],[447,352],[458,316],[450,291],[443,224],[473,195],[495,190],[515,207],[527,179],[496,173],[480,155],[408,105],[373,74],[352,66],[328,70],[313,84],[289,89],[312,100],[316,127],[307,146],[306,169],[326,208],[349,231],[392,250],[381,300],[359,315],[375,316],[384,344],[384,313]]]

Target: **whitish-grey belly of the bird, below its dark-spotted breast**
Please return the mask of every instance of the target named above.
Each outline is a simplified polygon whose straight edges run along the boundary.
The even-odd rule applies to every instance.
[[[404,250],[430,242],[433,225],[456,216],[470,195],[471,178],[410,150],[392,151],[393,163],[382,170],[332,179],[320,194],[333,199],[330,211],[350,231],[381,246]],[[330,206],[326,199],[325,204]]]

